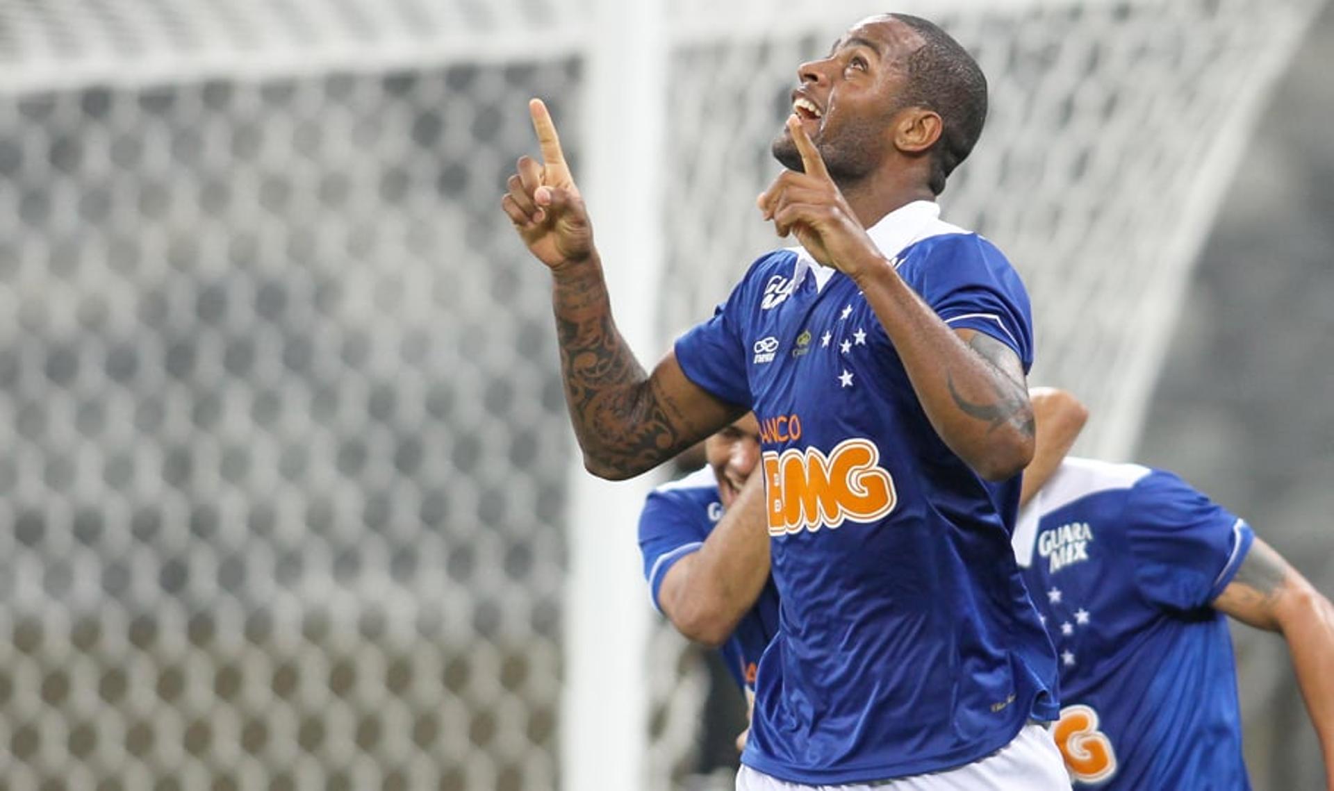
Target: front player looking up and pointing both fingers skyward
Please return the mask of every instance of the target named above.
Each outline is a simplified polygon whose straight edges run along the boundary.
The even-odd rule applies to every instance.
[[[1029,299],[935,196],[986,116],[934,24],[875,16],[802,64],[759,199],[799,247],[760,257],[646,375],[611,319],[555,127],[502,207],[552,273],[590,471],[638,475],[759,419],[779,630],[738,788],[1069,787],[1047,731],[1057,662],[1010,551],[1033,456]]]

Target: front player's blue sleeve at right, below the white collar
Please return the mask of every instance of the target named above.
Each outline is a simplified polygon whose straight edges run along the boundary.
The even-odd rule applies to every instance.
[[[1023,369],[1033,365],[1029,292],[1010,261],[975,233],[928,239],[904,251],[908,283],[955,329],[976,329],[1010,347]]]

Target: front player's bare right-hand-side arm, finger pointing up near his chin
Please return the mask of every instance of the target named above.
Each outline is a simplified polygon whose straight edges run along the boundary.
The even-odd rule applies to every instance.
[[[1019,356],[990,335],[940,320],[875,248],[800,121],[792,116],[787,128],[804,173],[782,173],[760,196],[766,219],[856,281],[944,444],[987,480],[1013,478],[1033,459],[1034,446]]]

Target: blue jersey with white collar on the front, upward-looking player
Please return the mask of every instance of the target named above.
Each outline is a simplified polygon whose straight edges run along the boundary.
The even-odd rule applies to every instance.
[[[870,236],[948,325],[1027,367],[1019,276],[938,213],[912,203]],[[760,423],[780,606],[743,763],[882,780],[971,763],[1055,719],[1055,654],[1010,551],[1019,482],[987,483],[944,446],[851,279],[800,249],[766,255],[676,359]]]

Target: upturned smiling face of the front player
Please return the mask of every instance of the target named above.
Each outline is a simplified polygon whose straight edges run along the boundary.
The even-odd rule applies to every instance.
[[[907,79],[900,59],[920,44],[902,21],[872,16],[835,41],[827,57],[798,67],[792,112],[835,181],[870,175],[892,151],[891,121],[902,109],[898,99]],[[786,125],[774,140],[774,156],[788,169],[802,169]]]

